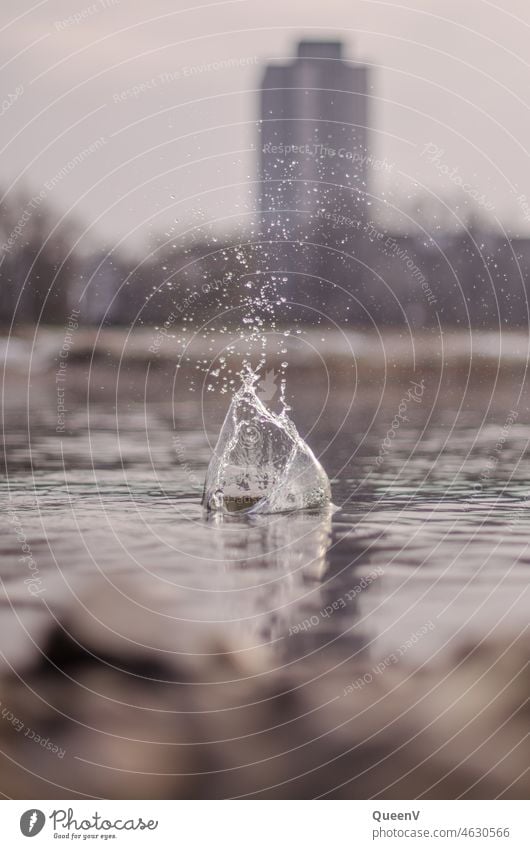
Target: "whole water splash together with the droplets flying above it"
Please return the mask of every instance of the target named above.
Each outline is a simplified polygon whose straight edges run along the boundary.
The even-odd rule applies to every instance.
[[[248,238],[220,246],[210,251],[211,273],[203,271],[200,285],[190,272],[179,286],[177,368],[185,369],[187,389],[203,383],[209,398],[232,396],[207,471],[208,511],[276,513],[330,500],[327,475],[289,417],[289,350],[304,330],[273,248]],[[194,358],[197,343],[203,351]]]

